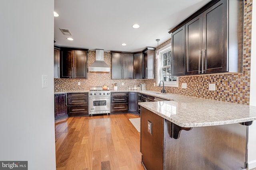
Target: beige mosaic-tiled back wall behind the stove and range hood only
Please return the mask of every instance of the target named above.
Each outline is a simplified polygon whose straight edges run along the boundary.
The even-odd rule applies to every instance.
[[[88,51],[88,66],[95,61],[95,51]],[[72,91],[72,90],[89,90],[90,86],[102,86],[107,84],[110,90],[113,90],[113,84],[118,84],[118,90],[128,90],[128,87],[134,87],[143,80],[112,80],[111,79],[111,53],[104,52],[104,61],[110,66],[109,73],[88,72],[87,79],[72,79],[72,78],[54,78],[54,91]],[[78,82],[81,85],[78,86]],[[122,82],[124,86],[122,86]]]

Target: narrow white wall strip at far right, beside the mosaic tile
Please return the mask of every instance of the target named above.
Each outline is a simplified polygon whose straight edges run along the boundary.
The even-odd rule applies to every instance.
[[[256,5],[252,6],[250,105],[256,106]],[[248,165],[249,169],[256,168],[256,121],[249,126]]]

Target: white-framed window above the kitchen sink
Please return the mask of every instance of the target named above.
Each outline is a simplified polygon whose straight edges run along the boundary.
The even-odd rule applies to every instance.
[[[157,59],[157,83],[164,81],[164,86],[178,87],[178,77],[172,76],[172,56],[171,44],[158,50]]]

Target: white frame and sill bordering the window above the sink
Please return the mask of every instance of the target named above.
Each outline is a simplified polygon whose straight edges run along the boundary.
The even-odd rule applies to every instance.
[[[159,58],[156,59],[156,63],[157,63],[156,84],[157,84],[157,86],[159,86],[159,82],[162,80],[162,66],[161,66],[161,64],[163,62],[163,57],[162,57],[163,53],[166,53],[167,51],[170,51],[171,49],[172,49],[171,44],[168,44],[168,45],[162,47],[161,49],[158,49]],[[164,86],[178,87],[179,86],[179,78],[176,77],[176,81],[164,81]]]

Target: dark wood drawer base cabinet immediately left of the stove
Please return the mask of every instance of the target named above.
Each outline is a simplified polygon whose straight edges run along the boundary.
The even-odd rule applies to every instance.
[[[67,105],[69,116],[88,116],[88,93],[68,93]]]

